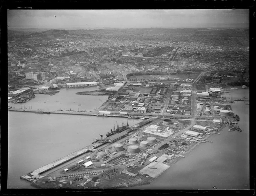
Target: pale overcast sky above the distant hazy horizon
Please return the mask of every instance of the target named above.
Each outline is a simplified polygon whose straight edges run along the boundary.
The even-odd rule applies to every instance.
[[[249,9],[8,10],[7,22],[9,28],[244,28]]]

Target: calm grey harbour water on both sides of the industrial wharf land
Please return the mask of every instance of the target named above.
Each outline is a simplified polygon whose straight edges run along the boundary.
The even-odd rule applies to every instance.
[[[52,103],[54,109],[59,109],[59,105],[63,105],[64,110],[72,109],[77,104],[84,104],[86,111],[93,111],[107,99],[107,96],[104,99],[104,96],[74,95],[79,91],[85,89],[62,89],[54,96],[36,95],[36,98],[25,105],[28,108],[33,104],[33,109],[52,109],[48,103],[44,103],[45,100],[49,100],[47,102]],[[232,94],[233,99],[249,97],[249,90],[234,90]],[[38,102],[40,99],[41,102]],[[59,105],[55,106],[54,101],[62,104],[58,102]],[[90,104],[86,105],[89,101]],[[210,140],[213,143],[200,144],[150,185],[131,189],[213,189],[212,186],[218,189],[248,189],[249,105],[245,105],[246,102],[243,101],[235,102],[231,106],[240,116],[238,125],[242,132],[229,132],[224,129],[220,132],[221,135],[212,135]],[[119,125],[123,121],[126,124],[127,118],[42,115],[9,111],[8,188],[33,188],[30,183],[19,177],[91,144],[99,134],[105,135],[113,129],[116,121]],[[140,121],[128,119],[130,126]]]

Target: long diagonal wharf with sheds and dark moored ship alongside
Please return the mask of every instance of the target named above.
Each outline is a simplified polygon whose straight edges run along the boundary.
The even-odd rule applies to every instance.
[[[102,149],[99,149],[100,146],[106,145],[108,143],[109,143],[109,145],[111,145],[114,141],[121,140],[122,138],[125,138],[129,134],[133,133],[133,131],[138,130],[138,128],[141,128],[142,126],[144,126],[150,122],[152,122],[152,120],[145,120],[136,125],[133,125],[131,128],[127,128],[127,129],[123,128],[124,133],[117,134],[118,138],[116,138],[115,136],[112,136],[113,137],[112,138],[110,136],[109,138],[105,138],[100,141],[93,142],[91,145],[86,146],[82,149],[79,149],[78,151],[75,151],[74,153],[71,153],[71,154],[64,156],[52,163],[42,166],[39,169],[35,169],[34,171],[31,171],[23,176],[20,176],[20,179],[24,179],[26,181],[29,181],[30,183],[35,183],[37,180],[44,177],[44,175],[42,175],[42,174],[44,174],[45,172],[47,172],[51,169],[54,169],[57,166],[61,166],[62,164],[67,163],[68,161],[71,161],[72,159],[78,158],[79,156],[81,156],[85,153],[90,153],[88,155],[95,154],[102,150]]]

